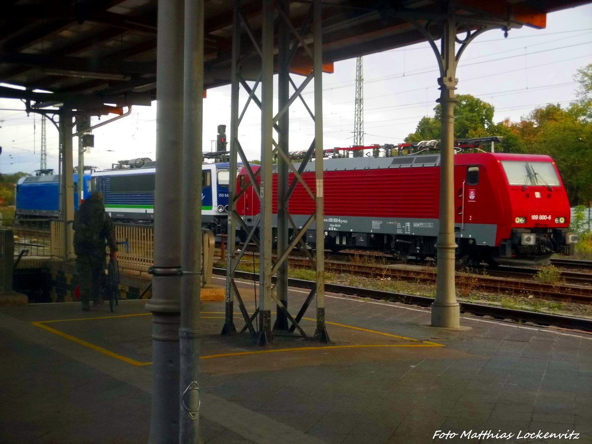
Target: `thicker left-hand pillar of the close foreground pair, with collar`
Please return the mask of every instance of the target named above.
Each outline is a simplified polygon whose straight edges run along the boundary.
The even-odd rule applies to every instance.
[[[151,443],[179,440],[183,0],[158,2]]]

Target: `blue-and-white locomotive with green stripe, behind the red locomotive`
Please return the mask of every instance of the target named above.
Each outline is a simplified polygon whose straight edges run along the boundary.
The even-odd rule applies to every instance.
[[[242,164],[239,164],[239,169]],[[102,192],[105,210],[121,223],[152,224],[156,162],[132,159],[114,169],[94,172],[92,189]],[[225,234],[229,210],[229,163],[202,165],[202,227]]]

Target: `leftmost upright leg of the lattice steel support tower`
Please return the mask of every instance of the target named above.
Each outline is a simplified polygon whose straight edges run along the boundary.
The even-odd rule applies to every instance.
[[[239,54],[240,54],[240,1],[234,2],[232,23],[232,65],[230,67],[230,184],[236,184],[237,143],[239,138]],[[221,334],[236,333],[234,326],[234,250],[236,250],[236,186],[228,187],[229,214],[226,233],[226,310]]]

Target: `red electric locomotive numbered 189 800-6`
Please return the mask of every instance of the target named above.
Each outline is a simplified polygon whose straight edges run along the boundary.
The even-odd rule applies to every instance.
[[[454,159],[459,259],[538,265],[548,263],[553,253],[572,254],[578,236],[568,231],[570,204],[551,157],[481,152]],[[439,153],[324,160],[325,247],[435,257],[439,165]],[[303,178],[316,188],[314,162]],[[248,180],[243,169],[239,181]],[[274,214],[276,182],[274,174]],[[299,226],[314,212],[314,201],[301,184],[288,210]],[[237,211],[247,225],[256,222],[260,204],[253,187],[237,202]],[[307,231],[306,241],[314,244],[314,230]]]

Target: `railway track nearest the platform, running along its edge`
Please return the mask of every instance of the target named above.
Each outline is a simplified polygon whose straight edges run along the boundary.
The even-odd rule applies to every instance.
[[[214,274],[226,275],[226,269],[214,268]],[[237,278],[250,281],[259,281],[259,275],[254,273],[237,271],[235,272],[235,275]],[[312,289],[316,284],[312,281],[290,278],[288,279],[288,285],[291,287]],[[326,291],[349,297],[372,298],[375,300],[418,305],[420,307],[430,307],[434,301],[433,298],[424,296],[379,291],[367,288],[347,287],[346,285],[337,284],[325,284],[325,289]],[[461,313],[471,314],[477,317],[489,317],[496,320],[509,320],[523,324],[532,324],[535,326],[556,326],[564,329],[592,332],[592,319],[561,316],[548,313],[536,313],[534,311],[513,310],[511,308],[495,307],[492,305],[465,302],[460,302],[459,304],[461,306]]]

